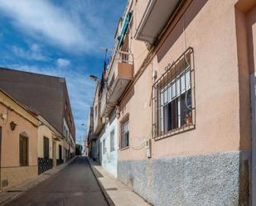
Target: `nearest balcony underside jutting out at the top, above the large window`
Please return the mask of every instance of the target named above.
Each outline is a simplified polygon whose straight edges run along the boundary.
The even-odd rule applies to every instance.
[[[150,43],[156,41],[181,2],[181,0],[149,0],[135,39]]]

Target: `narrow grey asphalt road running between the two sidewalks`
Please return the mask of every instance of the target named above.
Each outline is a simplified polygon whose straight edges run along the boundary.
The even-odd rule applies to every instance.
[[[78,157],[6,206],[107,206],[89,163]]]

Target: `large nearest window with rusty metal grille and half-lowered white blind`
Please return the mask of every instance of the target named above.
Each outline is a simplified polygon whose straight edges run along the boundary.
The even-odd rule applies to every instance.
[[[191,48],[186,50],[153,85],[154,137],[195,126],[192,54]]]

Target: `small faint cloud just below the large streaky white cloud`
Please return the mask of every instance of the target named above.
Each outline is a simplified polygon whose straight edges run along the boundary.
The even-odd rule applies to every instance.
[[[48,60],[46,55],[42,54],[41,48],[37,44],[32,44],[29,50],[24,50],[18,46],[11,46],[12,52],[26,60]]]

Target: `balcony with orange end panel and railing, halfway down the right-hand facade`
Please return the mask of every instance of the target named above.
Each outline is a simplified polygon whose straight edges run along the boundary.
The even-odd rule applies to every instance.
[[[101,98],[100,116],[109,117],[119,98],[133,79],[133,54],[115,51],[109,66],[108,87]]]

